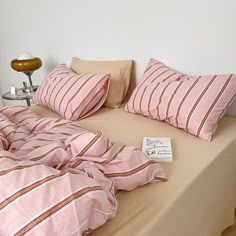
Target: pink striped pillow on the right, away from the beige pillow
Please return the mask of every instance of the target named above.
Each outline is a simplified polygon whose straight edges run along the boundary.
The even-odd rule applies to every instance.
[[[187,76],[151,59],[125,111],[168,122],[210,141],[235,93],[234,74]]]

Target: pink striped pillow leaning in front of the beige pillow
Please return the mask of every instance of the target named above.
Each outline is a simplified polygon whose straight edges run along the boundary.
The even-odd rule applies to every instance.
[[[33,96],[33,102],[59,113],[69,120],[91,115],[104,103],[108,74],[76,74],[65,64],[57,66]]]

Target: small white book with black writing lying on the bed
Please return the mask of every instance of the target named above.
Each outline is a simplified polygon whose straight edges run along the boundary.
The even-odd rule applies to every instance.
[[[173,161],[170,138],[144,137],[142,151],[157,161]]]

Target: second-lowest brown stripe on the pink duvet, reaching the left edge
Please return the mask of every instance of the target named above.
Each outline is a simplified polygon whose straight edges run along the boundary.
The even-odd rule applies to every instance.
[[[9,205],[10,203],[12,203],[13,201],[15,201],[17,198],[22,197],[24,194],[36,189],[37,187],[50,182],[51,180],[54,180],[56,178],[59,178],[65,174],[78,174],[76,171],[72,171],[72,170],[64,170],[59,172],[56,175],[50,175],[47,176],[41,180],[38,180],[36,182],[34,182],[33,184],[22,188],[21,190],[17,191],[16,193],[14,193],[13,195],[11,195],[10,197],[6,198],[4,201],[0,202],[0,210],[2,210],[4,207],[6,207],[7,205]]]

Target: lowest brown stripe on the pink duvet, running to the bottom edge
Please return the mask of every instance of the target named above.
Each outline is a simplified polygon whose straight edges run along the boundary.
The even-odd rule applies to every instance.
[[[102,191],[102,188],[100,186],[93,186],[93,187],[86,187],[82,190],[79,190],[78,192],[72,194],[71,196],[67,197],[63,201],[59,202],[55,206],[51,207],[44,213],[42,213],[40,216],[32,220],[30,223],[28,223],[26,226],[24,226],[20,231],[16,233],[16,236],[21,236],[29,232],[31,229],[33,229],[36,225],[41,223],[42,221],[46,220],[50,216],[52,216],[54,213],[61,210],[63,207],[71,203],[72,201],[75,201],[79,197],[93,191]]]

